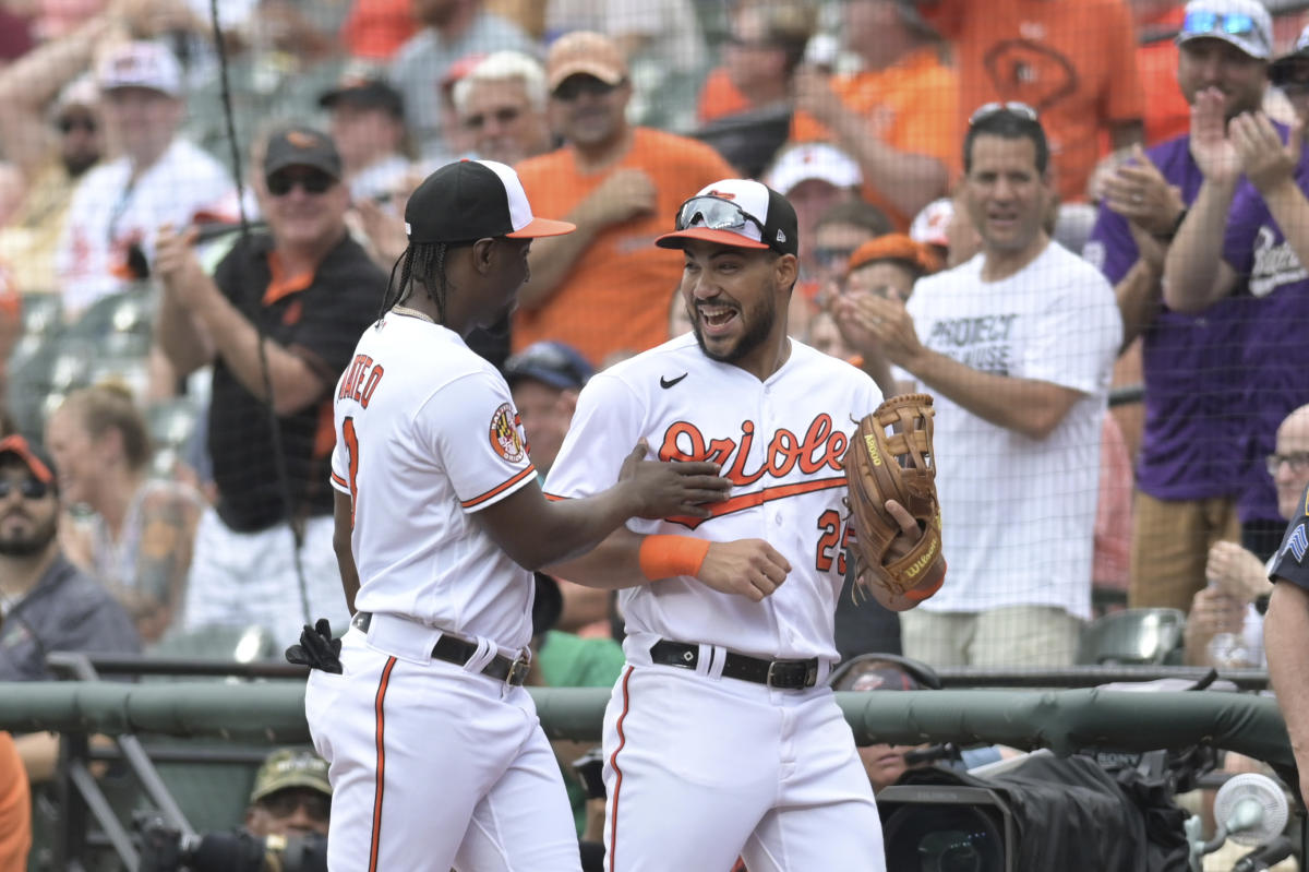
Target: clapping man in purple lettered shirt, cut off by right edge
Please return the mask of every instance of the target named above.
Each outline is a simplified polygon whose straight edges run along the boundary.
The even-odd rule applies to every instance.
[[[1275,69],[1284,81],[1285,64]],[[1309,152],[1302,117],[1287,132],[1258,107],[1225,109],[1219,89],[1196,96],[1190,149],[1203,183],[1164,262],[1164,302],[1202,319],[1240,312],[1236,399],[1216,414],[1240,427],[1241,543],[1264,559],[1285,528],[1263,458],[1282,419],[1309,403]]]

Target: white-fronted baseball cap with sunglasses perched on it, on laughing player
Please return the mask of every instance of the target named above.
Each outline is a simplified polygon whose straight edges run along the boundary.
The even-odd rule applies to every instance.
[[[681,249],[685,240],[704,240],[741,249],[798,254],[796,209],[781,194],[747,178],[708,185],[682,203],[675,230],[654,240],[661,249]]]

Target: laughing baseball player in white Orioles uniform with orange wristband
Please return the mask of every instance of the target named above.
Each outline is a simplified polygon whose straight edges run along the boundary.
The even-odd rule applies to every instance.
[[[825,683],[850,536],[842,457],[881,394],[787,338],[797,240],[780,194],[711,185],[657,244],[685,251],[694,331],[588,382],[546,492],[598,492],[597,470],[635,439],[720,463],[733,490],[708,518],[632,521],[552,570],[622,588],[606,869],[723,872],[738,855],[750,872],[884,869],[873,792]]]

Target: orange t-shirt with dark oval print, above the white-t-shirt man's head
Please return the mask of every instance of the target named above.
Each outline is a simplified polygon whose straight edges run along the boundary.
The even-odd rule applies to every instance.
[[[935,0],[919,8],[954,41],[959,130],[983,103],[1028,103],[1041,113],[1059,194],[1085,199],[1101,135],[1145,115],[1124,0]]]

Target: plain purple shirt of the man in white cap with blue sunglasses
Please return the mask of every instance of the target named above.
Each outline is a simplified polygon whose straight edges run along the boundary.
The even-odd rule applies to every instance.
[[[1192,203],[1204,177],[1191,158],[1190,136],[1147,154]],[[1127,220],[1101,206],[1083,255],[1118,284],[1138,257]],[[1233,410],[1244,388],[1237,363],[1245,305],[1232,297],[1199,316],[1162,306],[1141,333],[1145,427],[1136,486],[1156,499],[1234,498],[1241,490],[1244,435]]]

